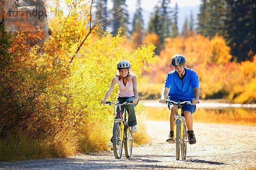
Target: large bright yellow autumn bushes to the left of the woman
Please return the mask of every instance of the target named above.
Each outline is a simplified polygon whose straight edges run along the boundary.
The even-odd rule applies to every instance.
[[[55,153],[49,156],[106,149],[103,144],[109,142],[114,116],[113,109],[102,106],[100,101],[115,75],[116,64],[130,61],[132,71],[142,82],[142,71],[149,71],[148,64],[155,61],[155,46],[149,43],[131,50],[120,31],[116,37],[107,32],[98,37],[97,26],[89,23],[90,6],[86,2],[89,1],[66,1],[70,13],[51,20],[53,35],[44,43],[43,53],[38,53],[38,46],[24,43],[27,37],[40,37],[40,30],[35,35],[17,35],[16,42],[23,46],[12,45],[14,64],[0,77],[0,135],[11,137],[24,127],[35,141],[54,148]],[[115,101],[117,92],[116,86],[109,100]],[[142,112],[140,106],[136,112]],[[146,140],[138,141],[143,142]],[[1,144],[6,142],[0,141]]]

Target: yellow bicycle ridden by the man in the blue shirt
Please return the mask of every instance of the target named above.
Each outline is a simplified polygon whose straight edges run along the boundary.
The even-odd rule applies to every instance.
[[[182,113],[182,106],[183,104],[192,104],[191,101],[183,101],[183,102],[175,102],[175,101],[166,101],[168,105],[175,104],[177,105],[177,111],[174,117],[174,141],[176,144],[176,159],[181,158],[186,159],[186,143],[189,142],[187,136],[187,126],[185,118],[183,117]]]

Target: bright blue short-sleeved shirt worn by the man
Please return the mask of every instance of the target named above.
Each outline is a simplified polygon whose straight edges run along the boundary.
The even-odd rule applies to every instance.
[[[186,69],[183,80],[181,80],[176,70],[174,70],[167,74],[165,87],[169,88],[169,99],[177,97],[183,101],[192,101],[195,98],[194,88],[198,87],[199,89],[198,75],[194,70]]]

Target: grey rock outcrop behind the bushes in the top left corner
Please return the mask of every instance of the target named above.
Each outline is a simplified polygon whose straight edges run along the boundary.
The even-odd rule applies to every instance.
[[[1,22],[4,22],[6,31],[31,32],[37,31],[35,28],[38,27],[44,31],[41,41],[49,39],[47,10],[42,0],[0,0],[0,3],[3,8],[1,9]]]

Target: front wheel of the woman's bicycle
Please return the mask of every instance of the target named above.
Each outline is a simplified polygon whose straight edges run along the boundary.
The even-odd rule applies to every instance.
[[[121,122],[116,121],[113,127],[113,151],[116,159],[122,157]]]

